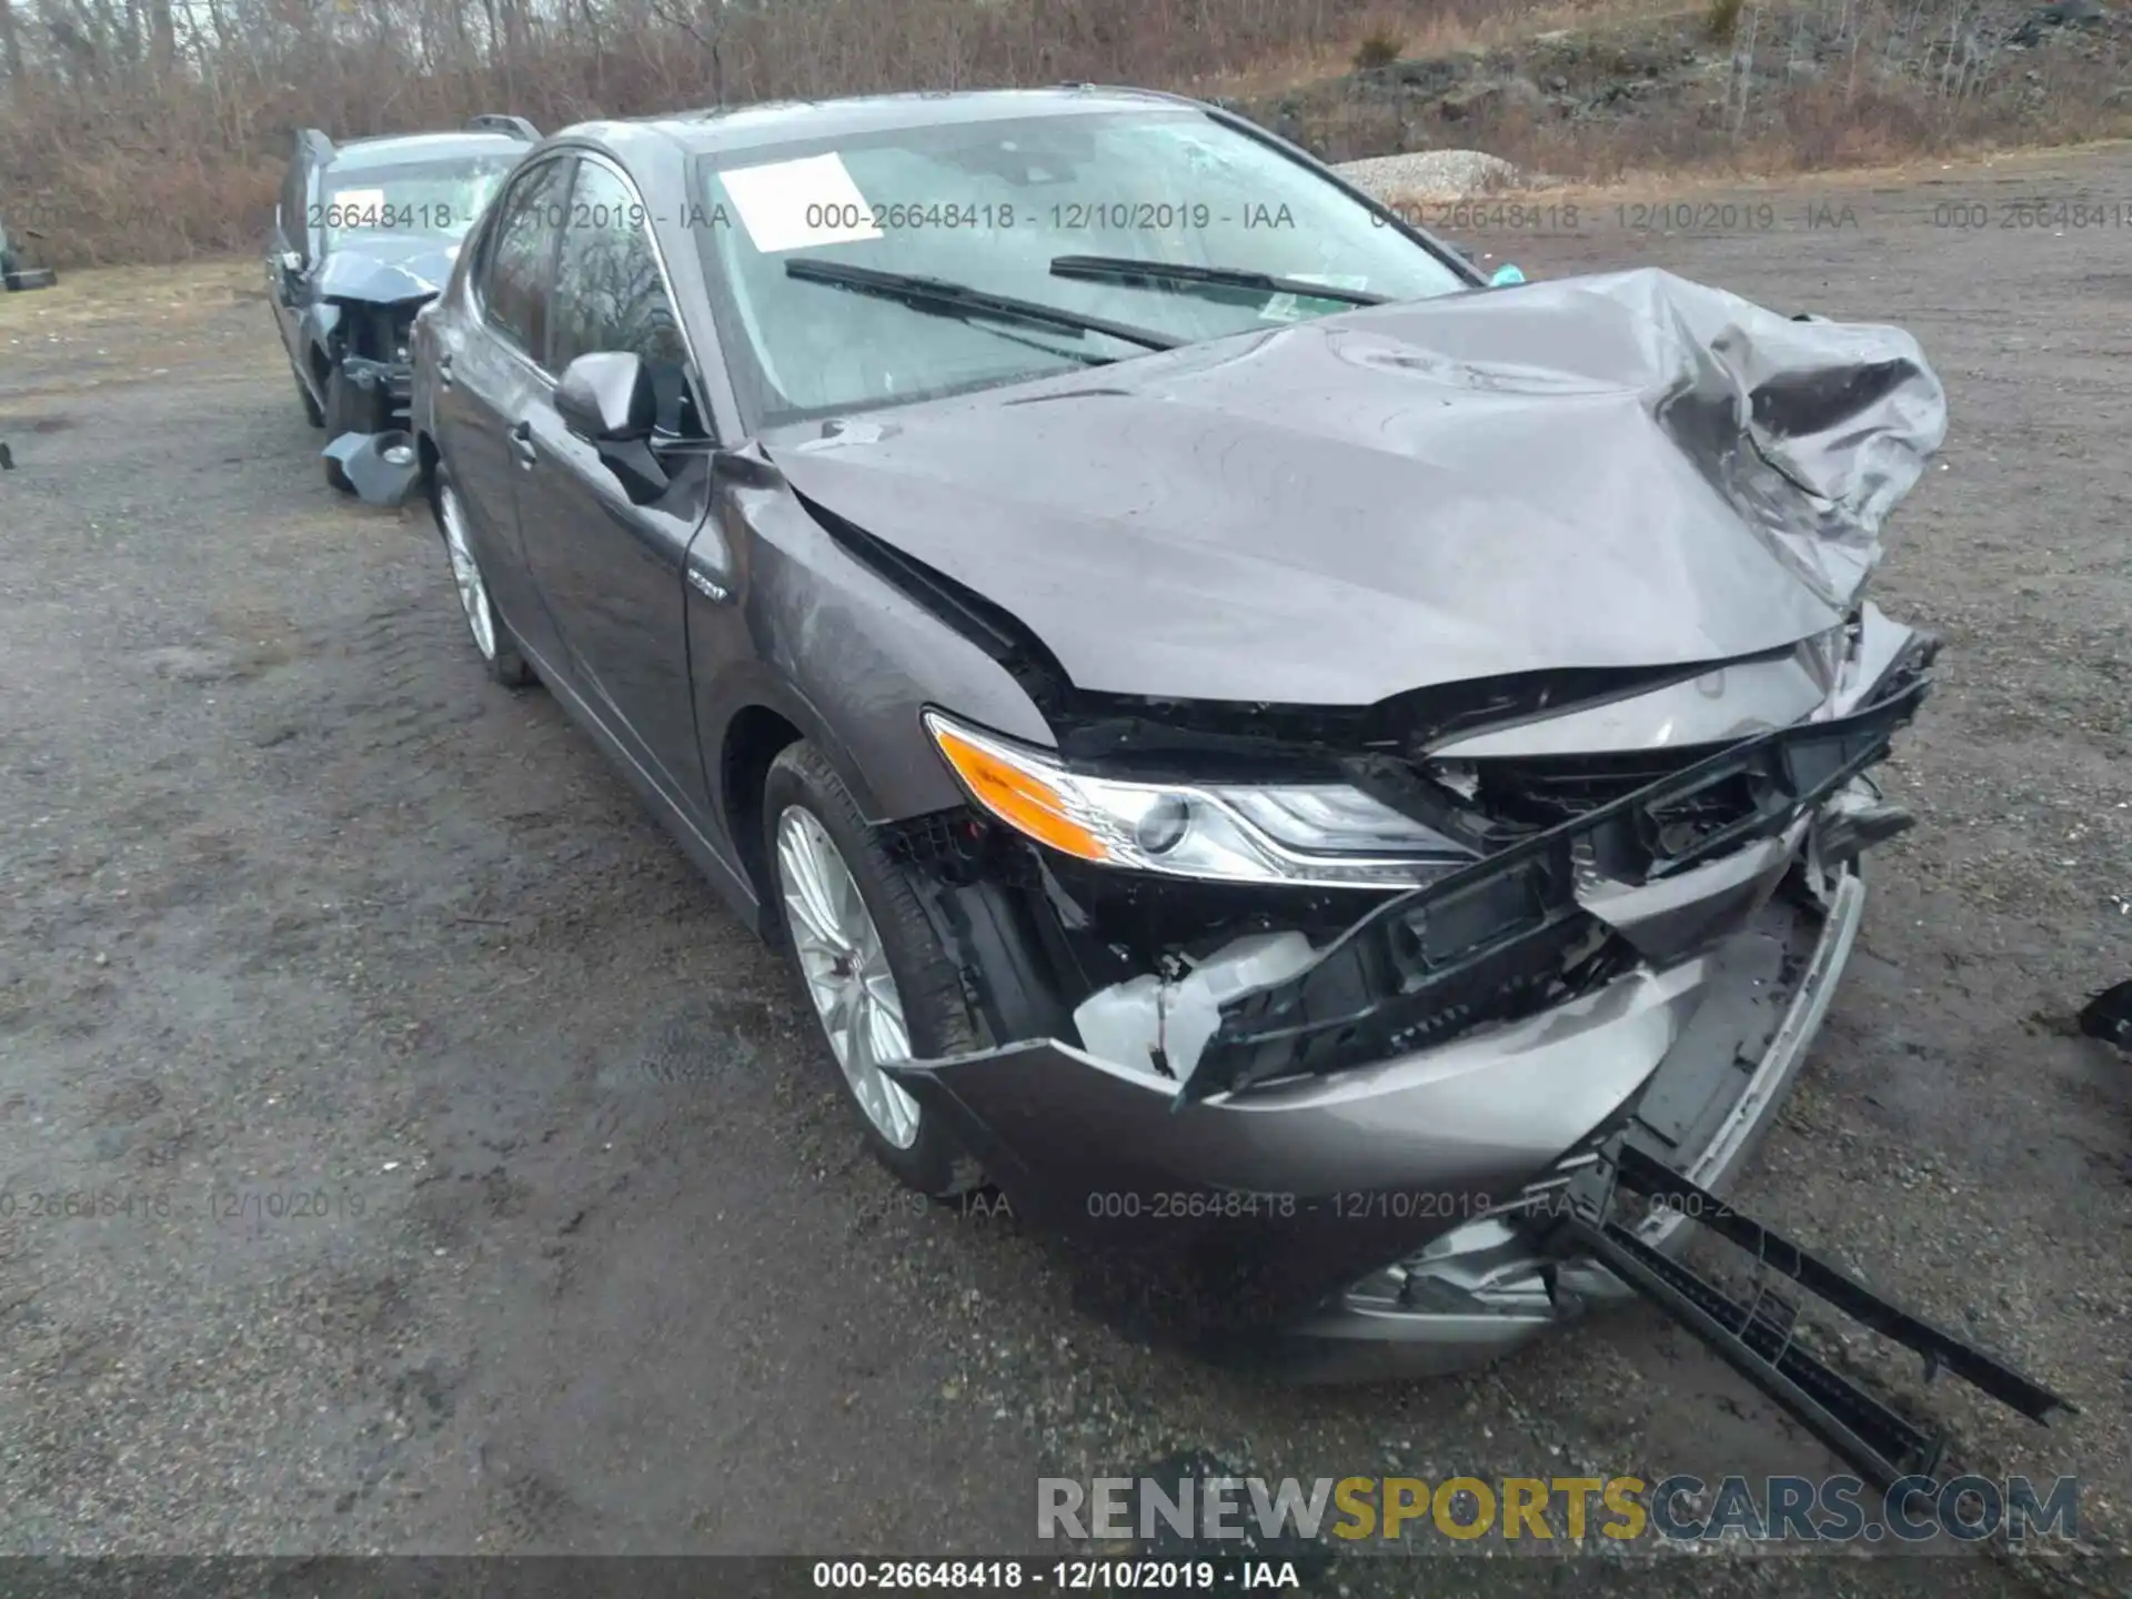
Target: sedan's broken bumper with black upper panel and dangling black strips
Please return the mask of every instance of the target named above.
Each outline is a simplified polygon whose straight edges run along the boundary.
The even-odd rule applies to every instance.
[[[1942,1439],[1821,1360],[1772,1279],[1921,1354],[1927,1379],[2032,1420],[2070,1407],[1721,1198],[1842,979],[1859,851],[1908,825],[1863,774],[1934,646],[1868,618],[1876,635],[1870,689],[1390,898],[1324,949],[1239,938],[1100,989],[1075,1017],[1102,1053],[1040,1038],[887,1070],[1019,1207],[1158,1245],[1158,1290],[1217,1307],[1202,1335],[1290,1375],[1471,1367],[1633,1292],[1880,1488],[1929,1477]],[[1680,1258],[1691,1222],[1748,1254],[1744,1296]]]

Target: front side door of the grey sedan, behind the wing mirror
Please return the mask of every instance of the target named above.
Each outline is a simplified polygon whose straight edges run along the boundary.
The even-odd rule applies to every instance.
[[[631,495],[563,426],[552,386],[527,390],[518,529],[599,716],[695,817],[710,810],[689,695],[684,563],[710,510],[710,437],[689,341],[646,207],[620,166],[580,154],[548,313],[548,373],[635,354],[659,392],[665,486]]]

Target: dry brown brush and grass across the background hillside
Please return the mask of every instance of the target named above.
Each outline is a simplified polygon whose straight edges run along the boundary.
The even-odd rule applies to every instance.
[[[1332,158],[1448,143],[1586,183],[2132,132],[2132,104],[2111,104],[2126,62],[2053,49],[2006,70],[2010,58],[1961,45],[1978,15],[1974,0],[213,0],[177,13],[164,68],[119,23],[87,41],[28,30],[26,72],[0,79],[0,196],[34,260],[188,260],[258,245],[305,124],[360,136],[516,111],[554,128],[721,98],[1064,79],[1247,107],[1301,96],[1315,107],[1301,136]],[[1712,43],[1727,26],[1755,75]],[[1823,51],[1795,72],[1808,28],[1838,28],[1846,58]],[[1552,62],[1571,30],[1586,43],[1563,68],[1571,100],[1644,77],[1640,41],[1676,66],[1661,64],[1648,100],[1603,115],[1505,96],[1441,130],[1343,83],[1358,55]],[[1686,83],[1682,41],[1710,55]]]

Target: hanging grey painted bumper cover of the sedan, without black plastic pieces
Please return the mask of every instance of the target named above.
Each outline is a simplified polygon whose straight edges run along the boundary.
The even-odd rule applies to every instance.
[[[1782,859],[1804,874],[1806,842]],[[1296,1375],[1426,1375],[1501,1356],[1622,1290],[1561,1298],[1529,1207],[1608,1132],[1725,1185],[1776,1115],[1857,934],[1863,881],[1799,876],[1733,936],[1520,1021],[1179,1109],[1175,1085],[1060,1040],[893,1068],[1017,1209],[1128,1245],[1249,1241],[1239,1328],[1286,1324]],[[1520,1209],[1522,1207],[1522,1209]],[[1640,1237],[1678,1241],[1678,1213]]]

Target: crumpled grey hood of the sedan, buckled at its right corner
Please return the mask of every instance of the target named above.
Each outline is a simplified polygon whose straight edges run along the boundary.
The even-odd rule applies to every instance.
[[[1947,429],[1897,328],[1633,271],[774,431],[1083,689],[1322,706],[1825,631]]]

